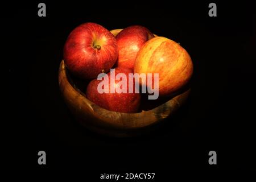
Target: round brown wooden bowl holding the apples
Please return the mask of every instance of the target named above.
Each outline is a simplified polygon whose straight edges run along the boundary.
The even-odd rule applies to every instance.
[[[122,29],[112,30],[117,35]],[[190,89],[171,98],[162,105],[139,113],[118,113],[103,109],[89,101],[85,93],[74,84],[62,60],[59,68],[59,86],[65,103],[82,125],[97,133],[114,137],[131,137],[150,130],[151,126],[174,114],[185,100]]]

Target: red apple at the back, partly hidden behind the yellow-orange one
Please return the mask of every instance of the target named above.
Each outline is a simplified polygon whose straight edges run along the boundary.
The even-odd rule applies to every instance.
[[[147,40],[154,38],[154,35],[145,27],[130,26],[119,32],[115,38],[119,49],[117,66],[133,69],[139,49]]]

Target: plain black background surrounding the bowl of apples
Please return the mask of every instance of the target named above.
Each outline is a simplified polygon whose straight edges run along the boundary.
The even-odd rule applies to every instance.
[[[3,168],[255,169],[254,2],[216,2],[217,17],[208,16],[210,1],[42,2],[46,17],[38,17],[39,2],[2,4]],[[102,137],[80,126],[57,73],[65,39],[84,22],[108,30],[139,24],[180,42],[195,68],[187,104],[143,137]],[[46,166],[38,165],[40,150]],[[216,166],[208,164],[211,150]]]

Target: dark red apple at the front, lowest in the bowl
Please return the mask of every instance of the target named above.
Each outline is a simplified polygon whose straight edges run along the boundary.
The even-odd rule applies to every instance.
[[[133,93],[129,93],[129,73],[132,73],[133,70],[127,68],[115,68],[114,72],[112,71],[110,71],[108,75],[104,76],[104,79],[108,77],[108,88],[102,86],[102,88],[106,90],[106,92],[108,93],[99,93],[98,86],[100,86],[99,84],[102,82],[103,79],[94,79],[90,81],[89,85],[87,86],[86,98],[88,98],[88,100],[94,102],[94,104],[99,105],[104,109],[117,111],[121,113],[136,113],[139,108],[141,94],[135,93],[135,89],[133,89]],[[127,93],[117,93],[117,90],[115,90],[117,89],[118,84],[120,84],[119,80],[110,81],[110,75],[113,74],[114,76],[117,76],[118,73],[124,73],[124,75],[127,78],[127,80],[125,80],[127,84],[125,90]],[[135,84],[133,80],[133,88],[134,86]],[[115,90],[115,93],[110,93],[111,88]]]

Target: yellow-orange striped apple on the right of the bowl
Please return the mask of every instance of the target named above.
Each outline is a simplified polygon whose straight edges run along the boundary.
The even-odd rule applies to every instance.
[[[170,96],[188,83],[193,63],[188,52],[178,43],[157,37],[148,40],[139,50],[134,73],[158,73],[159,96]]]

